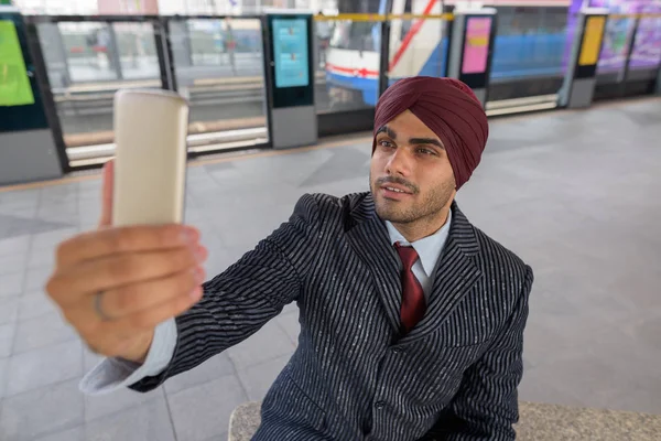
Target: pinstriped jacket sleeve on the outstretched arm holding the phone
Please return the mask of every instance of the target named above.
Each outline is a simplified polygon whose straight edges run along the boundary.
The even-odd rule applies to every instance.
[[[245,341],[296,301],[314,266],[317,227],[316,201],[304,195],[289,222],[207,281],[202,300],[176,318],[176,345],[165,369],[129,388],[145,392],[159,387]]]

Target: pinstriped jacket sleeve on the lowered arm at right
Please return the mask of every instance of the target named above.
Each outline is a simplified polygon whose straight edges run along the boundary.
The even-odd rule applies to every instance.
[[[487,352],[465,373],[447,413],[423,440],[513,441],[523,376],[523,330],[533,273],[525,276],[517,305]]]

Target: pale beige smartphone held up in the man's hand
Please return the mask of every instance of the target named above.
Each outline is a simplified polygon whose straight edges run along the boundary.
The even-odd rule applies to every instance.
[[[186,192],[188,104],[166,90],[115,95],[112,225],[181,224]]]

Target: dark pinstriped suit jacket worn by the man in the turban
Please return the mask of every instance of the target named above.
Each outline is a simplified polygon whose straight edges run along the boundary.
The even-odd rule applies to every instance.
[[[299,346],[253,440],[513,440],[532,270],[456,203],[424,319],[400,333],[400,269],[369,193],[303,196],[288,223],[176,319],[147,391],[240,343],[290,302]]]

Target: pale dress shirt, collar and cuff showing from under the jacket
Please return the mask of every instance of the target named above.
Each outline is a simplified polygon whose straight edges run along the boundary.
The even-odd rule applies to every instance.
[[[434,269],[447,240],[451,222],[452,212],[441,229],[412,244],[404,239],[390,222],[386,222],[390,243],[393,246],[399,241],[401,246],[412,246],[418,252],[419,259],[413,263],[412,271],[422,286],[427,303],[434,283]],[[80,380],[80,390],[87,395],[104,395],[124,388],[142,378],[159,375],[170,364],[176,340],[176,323],[174,319],[170,319],[156,326],[152,345],[142,365],[119,358],[104,358]]]

